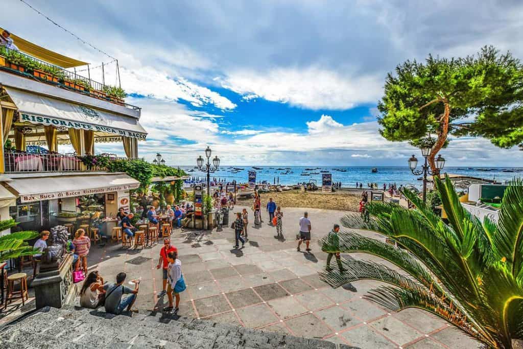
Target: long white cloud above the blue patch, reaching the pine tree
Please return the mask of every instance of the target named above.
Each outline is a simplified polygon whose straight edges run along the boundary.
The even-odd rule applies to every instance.
[[[349,109],[357,104],[376,102],[382,92],[383,76],[344,76],[336,71],[277,68],[269,71],[229,73],[222,86],[236,93],[263,97],[309,109]]]

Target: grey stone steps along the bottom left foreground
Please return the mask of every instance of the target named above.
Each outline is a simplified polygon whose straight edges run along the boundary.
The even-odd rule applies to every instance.
[[[99,308],[103,310],[103,308]],[[354,348],[161,312],[45,307],[0,328],[0,348]]]

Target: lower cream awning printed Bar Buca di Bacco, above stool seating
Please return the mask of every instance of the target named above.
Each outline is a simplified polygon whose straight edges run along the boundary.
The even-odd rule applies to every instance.
[[[31,202],[136,189],[140,182],[122,173],[82,173],[13,178],[8,185],[21,202]]]

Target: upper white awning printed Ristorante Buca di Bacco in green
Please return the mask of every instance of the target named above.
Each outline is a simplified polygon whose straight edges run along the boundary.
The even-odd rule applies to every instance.
[[[13,99],[20,113],[19,121],[37,125],[64,126],[81,130],[107,132],[117,136],[145,139],[147,132],[138,119],[107,110],[22,91],[13,87],[4,89]]]

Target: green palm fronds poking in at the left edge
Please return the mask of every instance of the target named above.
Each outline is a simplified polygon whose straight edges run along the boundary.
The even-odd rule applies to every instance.
[[[14,219],[7,219],[0,221],[0,231],[4,231],[16,226]],[[26,242],[27,240],[38,237],[36,231],[19,231],[10,233],[0,237],[0,262],[6,261],[9,258],[17,258],[20,256],[28,256],[41,253]]]

